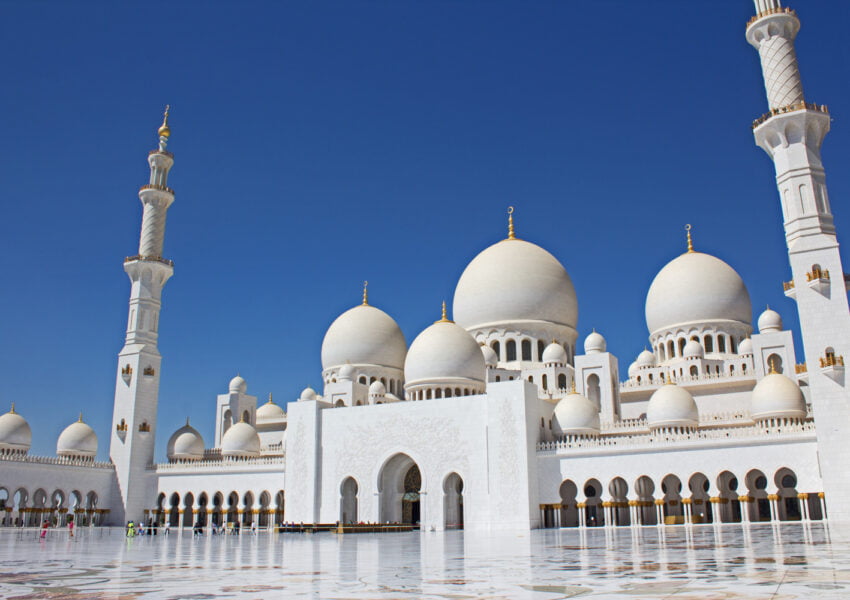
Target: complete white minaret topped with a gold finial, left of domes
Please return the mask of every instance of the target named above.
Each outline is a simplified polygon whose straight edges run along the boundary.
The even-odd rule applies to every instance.
[[[153,462],[162,361],[156,342],[162,288],[174,272],[174,263],[162,257],[165,217],[174,202],[174,191],[167,186],[174,164],[174,156],[165,149],[171,135],[167,106],[158,133],[159,148],[148,154],[150,183],[139,190],[143,207],[139,252],[124,259],[131,283],[130,315],[124,348],[118,354],[109,444],[124,514],[116,515],[113,522],[141,519],[144,509],[153,506],[156,494],[155,480],[147,468]]]

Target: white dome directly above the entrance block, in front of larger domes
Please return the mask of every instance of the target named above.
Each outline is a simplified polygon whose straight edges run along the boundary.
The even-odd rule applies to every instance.
[[[469,332],[452,321],[437,321],[420,333],[404,363],[405,388],[423,383],[486,378],[484,354]]]

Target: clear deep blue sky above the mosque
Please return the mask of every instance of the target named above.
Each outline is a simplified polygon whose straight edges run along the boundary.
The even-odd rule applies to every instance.
[[[850,236],[850,3],[797,0],[806,97]],[[158,455],[212,443],[237,371],[320,389],[325,329],[360,301],[410,343],[480,250],[557,256],[625,370],[657,271],[698,250],[796,327],[749,0],[0,2],[0,405],[52,455],[83,410],[108,455],[116,354],[162,107],[172,109]],[[840,238],[845,244],[850,237]],[[799,338],[798,338],[799,339]],[[798,343],[799,344],[799,343]],[[802,360],[798,345],[798,357]],[[4,408],[5,410],[5,408]]]

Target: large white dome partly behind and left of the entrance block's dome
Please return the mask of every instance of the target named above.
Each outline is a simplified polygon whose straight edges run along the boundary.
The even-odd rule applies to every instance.
[[[322,341],[322,368],[351,363],[402,369],[406,354],[407,342],[393,318],[361,304],[331,323]]]

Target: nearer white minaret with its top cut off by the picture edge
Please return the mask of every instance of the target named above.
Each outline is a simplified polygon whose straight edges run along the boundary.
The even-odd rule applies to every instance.
[[[806,353],[818,455],[830,519],[850,520],[850,359],[847,283],[826,192],[820,149],[829,131],[825,106],[803,98],[794,38],[800,21],[779,0],[755,0],[747,41],[761,56],[770,112],[756,120],[756,143],[773,159]]]

